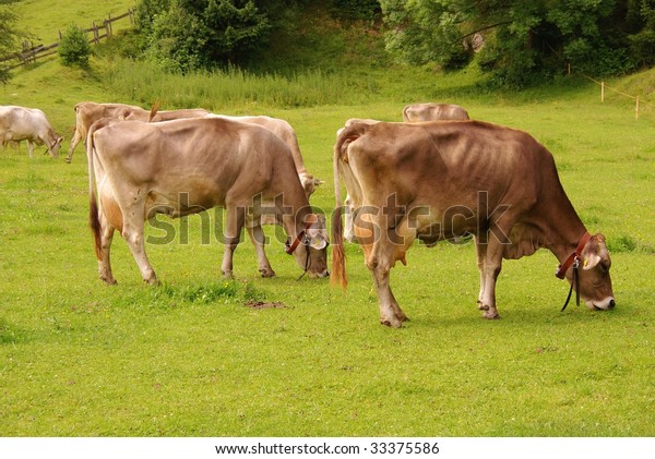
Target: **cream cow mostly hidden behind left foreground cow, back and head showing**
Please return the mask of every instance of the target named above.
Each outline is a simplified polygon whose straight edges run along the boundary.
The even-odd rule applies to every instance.
[[[266,116],[243,116],[243,117],[234,117],[228,114],[215,114],[211,113],[207,117],[210,118],[224,118],[226,120],[240,121],[250,124],[258,124],[262,128],[267,129],[279,138],[282,138],[288,147],[291,149],[291,155],[294,156],[294,162],[296,165],[296,172],[298,172],[298,178],[300,179],[300,183],[302,184],[302,189],[305,190],[305,194],[309,200],[309,196],[314,192],[315,188],[321,183],[324,183],[322,180],[314,179],[313,174],[307,171],[305,167],[305,161],[302,160],[302,154],[300,153],[300,146],[298,145],[298,137],[296,136],[296,131],[291,128],[288,121],[282,120],[279,118],[272,118]]]

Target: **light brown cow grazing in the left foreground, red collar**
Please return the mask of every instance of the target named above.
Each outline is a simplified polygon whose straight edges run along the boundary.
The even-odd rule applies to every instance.
[[[310,277],[329,275],[325,220],[311,213],[288,147],[270,131],[224,119],[102,119],[90,129],[86,143],[90,226],[105,282],[116,283],[109,262],[115,230],[127,241],[143,280],[154,285],[157,277],[144,249],[145,219],[216,206],[226,209],[225,277],[233,275],[233,254],[247,222],[262,276],[275,275],[260,224],[266,213],[275,215],[290,238],[286,251],[298,265]],[[264,208],[263,202],[274,206]]]

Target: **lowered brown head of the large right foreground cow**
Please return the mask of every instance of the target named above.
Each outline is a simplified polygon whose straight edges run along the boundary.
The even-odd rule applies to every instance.
[[[609,268],[611,259],[603,234],[590,238],[581,252],[580,297],[590,310],[610,310],[615,306]],[[572,269],[567,273],[569,282],[573,281]]]

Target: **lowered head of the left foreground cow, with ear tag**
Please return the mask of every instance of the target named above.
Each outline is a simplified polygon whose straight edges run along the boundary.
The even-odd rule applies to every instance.
[[[301,243],[293,252],[296,263],[309,277],[327,277],[327,229],[325,216],[317,215],[315,221],[305,230]]]

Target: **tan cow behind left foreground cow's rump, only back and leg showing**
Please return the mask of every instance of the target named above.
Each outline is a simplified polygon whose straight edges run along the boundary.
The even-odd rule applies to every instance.
[[[204,109],[181,109],[181,110],[158,110],[158,105],[153,109],[145,110],[144,108],[126,105],[126,104],[97,104],[92,101],[80,102],[75,105],[75,134],[71,141],[67,162],[73,159],[73,153],[78,144],[84,140],[88,133],[88,128],[102,119],[110,118],[117,120],[138,120],[138,121],[168,121],[178,118],[198,118],[209,113]]]

